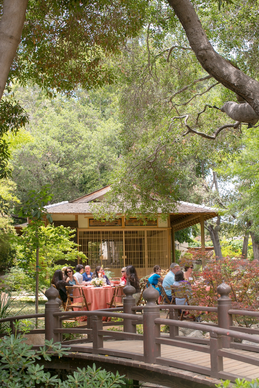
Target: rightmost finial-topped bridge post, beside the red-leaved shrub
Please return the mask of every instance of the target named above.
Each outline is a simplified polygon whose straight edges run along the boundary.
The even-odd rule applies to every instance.
[[[232,315],[228,314],[228,310],[232,308],[232,302],[229,298],[230,291],[230,286],[224,280],[217,286],[217,293],[220,294],[220,298],[217,300],[218,326],[227,330],[229,330],[229,326],[233,325]],[[231,341],[231,337],[222,336],[223,348],[229,348]]]

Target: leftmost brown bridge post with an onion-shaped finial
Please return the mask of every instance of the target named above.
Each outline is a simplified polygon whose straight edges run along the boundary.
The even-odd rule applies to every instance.
[[[59,342],[59,333],[53,333],[54,329],[59,329],[59,317],[53,317],[53,313],[59,312],[59,303],[56,298],[59,292],[52,285],[45,292],[48,301],[45,303],[45,340]]]

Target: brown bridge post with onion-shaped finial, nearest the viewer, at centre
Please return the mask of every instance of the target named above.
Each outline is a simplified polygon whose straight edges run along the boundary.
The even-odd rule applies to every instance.
[[[143,298],[147,301],[143,307],[144,362],[154,364],[156,357],[161,357],[161,345],[155,343],[155,338],[160,337],[160,325],[154,323],[156,318],[160,318],[159,306],[156,304],[159,293],[149,286],[143,292]]]

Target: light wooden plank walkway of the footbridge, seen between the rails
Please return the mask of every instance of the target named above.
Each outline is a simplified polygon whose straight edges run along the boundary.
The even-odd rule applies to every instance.
[[[92,343],[76,344],[76,347],[92,347]],[[104,348],[110,350],[121,350],[123,352],[129,350],[129,352],[139,353],[143,355],[143,341],[129,340],[129,341],[105,341]],[[228,349],[233,353],[240,353],[243,355],[250,355],[258,358],[259,353],[250,352],[246,350]],[[196,350],[189,350],[184,348],[178,348],[176,346],[161,345],[161,357],[168,359],[174,359],[177,361],[192,363],[195,365],[201,365],[210,367],[210,355],[203,352],[197,352]],[[236,374],[243,378],[256,379],[259,377],[259,367],[250,365],[245,362],[232,360],[223,357],[224,372]]]

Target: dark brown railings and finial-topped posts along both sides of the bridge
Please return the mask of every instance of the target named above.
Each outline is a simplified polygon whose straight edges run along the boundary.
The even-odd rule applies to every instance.
[[[247,340],[259,344],[259,337],[253,336],[259,331],[247,327],[233,326],[233,315],[250,315],[259,318],[259,312],[251,312],[247,310],[233,310],[229,293],[231,289],[226,283],[222,283],[217,288],[220,298],[217,301],[217,307],[206,306],[181,306],[181,305],[162,305],[156,304],[158,291],[153,287],[149,287],[143,293],[146,300],[146,305],[136,307],[136,301],[133,298],[135,293],[134,287],[127,286],[124,288],[126,297],[123,299],[123,308],[111,308],[94,311],[73,311],[62,312],[59,308],[60,304],[57,301],[57,289],[50,287],[46,291],[48,298],[45,303],[45,314],[20,315],[16,317],[8,317],[2,321],[10,321],[13,325],[16,319],[30,319],[34,317],[45,317],[45,329],[36,329],[33,332],[44,332],[47,340],[53,339],[54,342],[62,341],[63,333],[80,333],[87,334],[85,340],[66,341],[64,346],[71,343],[73,352],[86,352],[94,354],[105,354],[116,357],[124,357],[127,359],[143,361],[147,364],[160,364],[171,367],[178,367],[187,371],[206,374],[217,378],[230,378],[234,380],[238,375],[224,372],[223,357],[259,366],[259,357],[255,357],[254,353],[244,354],[236,352],[236,349],[250,350],[259,352],[259,346],[246,345],[233,342],[233,338]],[[160,318],[161,309],[169,309],[169,319]],[[186,309],[198,311],[217,312],[218,324],[186,322],[178,320],[178,310]],[[136,314],[141,312],[142,314]],[[87,316],[87,324],[72,328],[62,328],[63,320],[71,319],[72,317]],[[110,319],[120,319],[120,321],[110,320],[103,322],[103,317]],[[105,326],[123,325],[123,332],[115,330],[104,330]],[[136,325],[143,324],[143,334],[137,334]],[[161,334],[160,326],[168,325],[170,327],[169,336]],[[210,339],[191,338],[179,336],[179,327],[185,327],[193,330],[202,330],[210,333]],[[125,348],[109,348],[105,345],[105,340],[141,340],[143,341],[143,352],[134,352]],[[76,342],[88,342],[84,346],[79,346]],[[116,343],[116,342],[115,342]],[[197,365],[196,359],[193,363],[182,362],[172,357],[166,358],[161,356],[161,345],[174,346],[195,350],[201,353],[210,354],[210,367]],[[132,347],[132,346],[131,346]],[[134,350],[134,349],[133,349]],[[172,355],[174,352],[172,351]],[[241,376],[242,377],[242,376]]]

